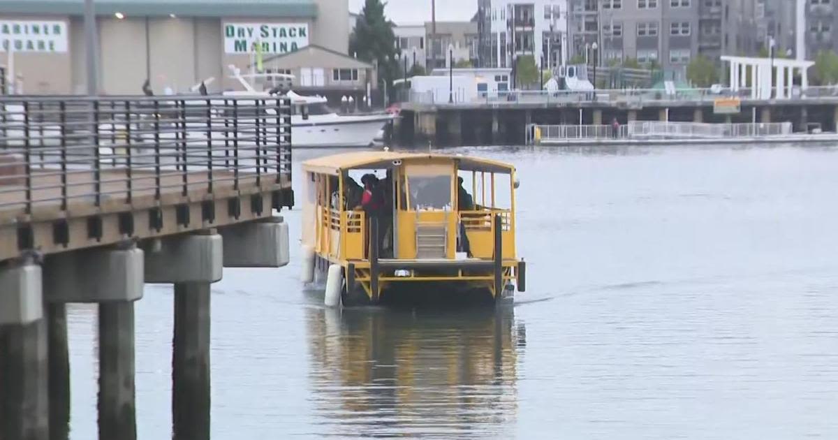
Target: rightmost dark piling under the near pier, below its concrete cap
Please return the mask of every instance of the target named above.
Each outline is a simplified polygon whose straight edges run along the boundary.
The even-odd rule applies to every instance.
[[[175,440],[209,439],[209,282],[174,285],[172,423]]]

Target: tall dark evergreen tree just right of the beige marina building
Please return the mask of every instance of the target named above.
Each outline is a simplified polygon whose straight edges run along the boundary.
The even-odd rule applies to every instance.
[[[349,53],[376,65],[380,79],[385,81],[388,88],[394,79],[401,77],[401,69],[396,60],[394,26],[385,17],[381,0],[365,0],[354,31],[349,36]]]

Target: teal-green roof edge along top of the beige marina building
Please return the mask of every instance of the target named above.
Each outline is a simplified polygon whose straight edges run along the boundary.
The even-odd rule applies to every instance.
[[[310,0],[207,1],[207,0],[96,0],[97,15],[124,13],[127,17],[282,17],[315,18],[317,5]],[[83,0],[0,0],[0,13],[82,15]]]

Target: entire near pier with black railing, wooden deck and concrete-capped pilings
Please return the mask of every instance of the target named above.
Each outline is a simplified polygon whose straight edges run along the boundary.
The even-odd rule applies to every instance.
[[[137,437],[134,303],[174,287],[174,438],[209,438],[209,286],[282,267],[291,104],[0,98],[0,438],[66,438],[66,304],[98,304],[98,429]]]

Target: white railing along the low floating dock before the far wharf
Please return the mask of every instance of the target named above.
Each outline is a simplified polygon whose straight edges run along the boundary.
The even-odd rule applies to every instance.
[[[645,122],[628,125],[537,125],[527,127],[527,143],[595,141],[606,139],[723,139],[778,137],[792,133],[791,122],[712,124],[701,122]]]

